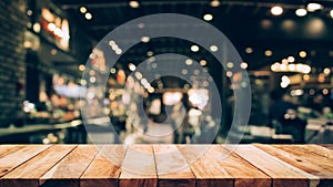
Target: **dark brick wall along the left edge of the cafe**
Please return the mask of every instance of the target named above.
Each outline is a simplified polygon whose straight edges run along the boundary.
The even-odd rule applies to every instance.
[[[13,123],[19,103],[24,100],[26,49],[28,17],[26,0],[0,1],[0,126]]]

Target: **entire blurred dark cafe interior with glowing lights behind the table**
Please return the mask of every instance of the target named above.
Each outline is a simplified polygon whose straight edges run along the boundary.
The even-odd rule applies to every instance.
[[[0,9],[1,144],[333,143],[331,0],[1,0]],[[128,24],[160,13],[198,21]],[[125,37],[105,37],[121,25]],[[200,32],[208,25],[231,45]],[[226,58],[230,48],[240,60]]]

